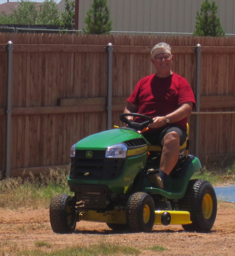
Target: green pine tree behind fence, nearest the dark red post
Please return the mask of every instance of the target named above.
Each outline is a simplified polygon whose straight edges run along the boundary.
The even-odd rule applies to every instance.
[[[86,28],[84,34],[109,34],[112,28],[112,21],[109,21],[109,9],[107,0],[93,0],[91,9],[86,13]]]

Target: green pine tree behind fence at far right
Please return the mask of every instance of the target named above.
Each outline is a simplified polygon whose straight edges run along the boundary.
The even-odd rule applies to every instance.
[[[218,7],[215,1],[210,3],[205,0],[200,8],[200,14],[197,11],[196,30],[193,36],[211,36],[211,37],[224,37],[225,31],[223,30],[220,19],[217,18]]]

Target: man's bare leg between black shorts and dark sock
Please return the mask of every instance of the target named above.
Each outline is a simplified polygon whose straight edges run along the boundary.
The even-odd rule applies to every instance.
[[[180,136],[177,132],[167,133],[162,140],[162,156],[160,161],[160,170],[167,175],[177,164],[180,154]]]

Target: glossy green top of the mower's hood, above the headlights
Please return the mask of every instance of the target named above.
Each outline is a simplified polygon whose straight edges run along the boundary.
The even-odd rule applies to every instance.
[[[132,129],[112,129],[78,141],[76,150],[105,150],[108,146],[135,138],[143,138],[143,136]]]

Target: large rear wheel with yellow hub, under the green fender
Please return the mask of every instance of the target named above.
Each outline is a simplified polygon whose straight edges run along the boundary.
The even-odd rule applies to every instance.
[[[179,209],[190,212],[192,224],[182,225],[185,231],[209,232],[217,214],[217,199],[210,182],[190,180]]]

